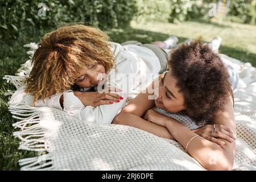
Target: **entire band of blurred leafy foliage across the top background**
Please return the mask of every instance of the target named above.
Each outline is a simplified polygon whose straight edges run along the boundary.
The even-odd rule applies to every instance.
[[[0,39],[18,38],[29,32],[55,28],[60,23],[84,22],[108,30],[137,22],[209,20],[209,3],[217,0],[44,0],[46,16],[39,16],[39,1],[0,1]],[[226,2],[225,0],[222,2]],[[226,18],[233,22],[255,24],[256,1],[233,0]]]

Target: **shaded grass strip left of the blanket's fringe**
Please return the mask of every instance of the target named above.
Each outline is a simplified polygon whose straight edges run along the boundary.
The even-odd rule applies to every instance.
[[[37,42],[38,36],[23,36],[18,40],[9,40],[0,44],[0,170],[19,169],[18,160],[35,156],[35,152],[18,150],[20,140],[13,137],[15,129],[12,124],[17,120],[11,117],[7,102],[10,96],[4,96],[7,90],[15,90],[15,87],[2,80],[5,75],[14,75],[20,64],[28,59],[24,44]]]

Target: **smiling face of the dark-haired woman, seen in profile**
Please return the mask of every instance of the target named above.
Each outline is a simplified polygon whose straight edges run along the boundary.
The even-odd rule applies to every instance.
[[[156,107],[176,113],[184,110],[184,96],[176,86],[176,80],[168,71],[159,81],[159,97],[155,100]]]

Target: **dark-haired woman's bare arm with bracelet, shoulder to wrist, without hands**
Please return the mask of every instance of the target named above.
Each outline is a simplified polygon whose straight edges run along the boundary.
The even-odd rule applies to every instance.
[[[225,110],[216,117],[216,123],[225,125],[232,130],[236,130],[234,124],[234,112],[232,98],[225,104]],[[166,118],[164,122],[167,129],[174,138],[185,148],[189,140],[196,134],[187,127],[171,118]],[[224,146],[210,142],[202,137],[196,137],[189,143],[187,151],[203,167],[209,170],[231,170],[233,167],[235,141],[225,142]]]

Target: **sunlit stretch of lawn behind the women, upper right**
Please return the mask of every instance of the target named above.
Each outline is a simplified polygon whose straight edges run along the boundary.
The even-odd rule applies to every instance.
[[[155,38],[163,38],[168,35],[176,35],[180,42],[185,39],[196,39],[203,36],[205,42],[210,42],[215,36],[222,38],[220,52],[230,57],[234,57],[244,62],[250,62],[256,67],[256,26],[238,23],[204,23],[204,22],[184,22],[180,24],[172,23],[147,23],[138,24],[133,22],[132,27],[152,31],[154,34],[133,35],[134,38],[146,40],[151,42]],[[158,34],[159,36],[154,36]],[[135,32],[134,32],[135,33]]]

